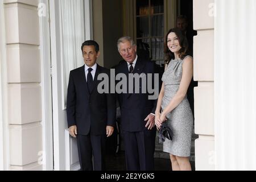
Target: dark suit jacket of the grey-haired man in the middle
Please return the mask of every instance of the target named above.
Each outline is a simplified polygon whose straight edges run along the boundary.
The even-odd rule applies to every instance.
[[[115,67],[115,73],[125,73],[128,78],[128,65],[126,61],[120,63]],[[133,73],[152,73],[154,78],[154,62],[146,61],[138,57],[137,63],[135,65]],[[127,79],[128,80],[128,79]],[[152,79],[152,85],[154,86],[154,79]],[[140,88],[142,83],[139,83]],[[128,86],[127,86],[128,88]],[[128,92],[129,88],[127,89]],[[144,119],[150,113],[155,113],[155,108],[157,100],[148,100],[150,94],[147,92],[143,93],[121,93],[118,94],[118,101],[121,108],[121,126],[123,131],[135,132],[135,131],[144,131],[146,130],[146,122]]]

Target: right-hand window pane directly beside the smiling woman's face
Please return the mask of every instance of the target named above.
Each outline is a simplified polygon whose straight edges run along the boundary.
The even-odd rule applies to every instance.
[[[164,59],[164,39],[163,38],[152,38],[151,50],[152,60],[163,60]]]

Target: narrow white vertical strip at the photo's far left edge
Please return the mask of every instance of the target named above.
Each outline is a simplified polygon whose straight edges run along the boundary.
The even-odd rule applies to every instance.
[[[5,14],[3,0],[0,0],[0,170],[8,170],[9,129],[7,123],[7,62],[5,40]]]

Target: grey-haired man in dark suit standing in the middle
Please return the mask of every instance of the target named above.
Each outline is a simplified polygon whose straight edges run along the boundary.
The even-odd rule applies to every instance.
[[[138,75],[152,73],[154,75],[154,63],[137,56],[137,46],[130,37],[118,40],[118,51],[125,61],[115,67],[116,74],[124,73],[127,78],[129,73],[138,73]],[[140,90],[142,85],[139,81]],[[154,170],[156,100],[149,100],[149,95],[148,92],[118,94],[126,167],[129,171]]]

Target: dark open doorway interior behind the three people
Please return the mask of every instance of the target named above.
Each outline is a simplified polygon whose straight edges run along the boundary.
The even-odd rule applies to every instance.
[[[104,7],[103,7],[104,9]],[[116,13],[116,12],[115,12]],[[122,36],[131,36],[133,39],[137,40],[137,46],[141,49],[141,52],[146,57],[149,57],[151,61],[155,61],[158,66],[159,72],[163,72],[163,39],[167,31],[170,28],[176,26],[176,17],[179,15],[185,15],[188,19],[188,30],[193,31],[193,1],[192,0],[177,0],[177,1],[153,1],[153,0],[132,0],[132,1],[123,1],[123,14],[115,14],[115,16],[123,16],[123,35]],[[108,24],[108,19],[105,19],[105,24]],[[154,24],[155,23],[155,24]],[[160,28],[152,28],[154,27]],[[114,28],[114,27],[112,27]],[[110,31],[111,32],[111,31]],[[193,38],[193,37],[192,37]],[[162,45],[159,46],[159,45]],[[192,43],[193,45],[193,43]],[[104,44],[108,46],[108,43]],[[109,46],[113,47],[113,46]],[[116,49],[115,47],[113,48]],[[116,51],[116,50],[115,50]],[[104,53],[105,54],[105,53]],[[105,56],[104,56],[105,57]],[[121,57],[120,57],[121,59]],[[197,86],[192,83],[189,87],[189,96],[193,97],[193,88]],[[190,98],[191,100],[191,98]],[[193,110],[193,98],[191,107]],[[122,134],[121,134],[122,135]],[[192,136],[192,145],[191,145],[191,166],[192,169],[195,169],[195,139],[196,135]],[[112,170],[118,170],[118,168],[125,169],[122,161],[124,158],[122,155],[123,146],[121,142],[121,154],[117,155],[113,160],[109,160],[110,168]],[[156,148],[155,148],[155,159],[156,163],[161,161],[164,163],[164,166],[159,164],[159,169],[168,169],[170,168],[170,156],[167,153],[162,152],[162,144],[159,143],[158,137],[156,137]],[[162,164],[162,162],[160,162]]]

